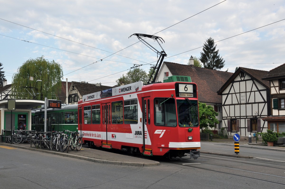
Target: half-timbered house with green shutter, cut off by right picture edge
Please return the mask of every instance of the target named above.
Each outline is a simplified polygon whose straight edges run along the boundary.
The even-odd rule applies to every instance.
[[[271,111],[263,121],[268,123],[268,129],[285,132],[285,64],[270,70],[262,79],[270,82]]]

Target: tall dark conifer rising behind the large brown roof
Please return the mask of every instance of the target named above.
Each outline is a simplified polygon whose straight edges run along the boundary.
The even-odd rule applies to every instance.
[[[203,52],[201,52],[200,61],[203,63],[204,68],[220,70],[225,66],[225,60],[219,55],[219,49],[216,50],[214,39],[209,38],[206,40],[203,46]]]

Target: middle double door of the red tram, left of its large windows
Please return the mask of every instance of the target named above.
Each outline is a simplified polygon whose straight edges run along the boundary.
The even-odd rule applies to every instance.
[[[111,132],[111,103],[102,104],[102,141],[103,146],[111,148],[110,132]]]

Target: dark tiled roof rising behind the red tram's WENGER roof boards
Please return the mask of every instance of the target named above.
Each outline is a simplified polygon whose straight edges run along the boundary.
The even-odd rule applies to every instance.
[[[76,82],[72,81],[73,85],[76,87],[76,89],[79,91],[80,95],[88,95],[90,93],[95,93],[98,91],[103,91],[106,89],[111,89],[113,87],[110,86],[96,86],[95,84],[91,83],[81,83],[81,82]]]

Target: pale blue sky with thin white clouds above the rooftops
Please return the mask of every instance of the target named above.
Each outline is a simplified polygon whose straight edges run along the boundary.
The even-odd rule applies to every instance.
[[[211,37],[225,60],[221,71],[235,72],[236,67],[270,71],[285,63],[284,0],[0,0],[0,4],[0,62],[7,84],[23,63],[41,56],[62,66],[62,81],[114,86],[134,66],[148,73],[157,53],[131,36],[134,33],[161,37],[168,62],[187,64],[191,56],[199,58]],[[152,39],[146,41],[162,50]]]

